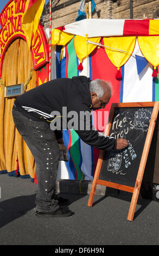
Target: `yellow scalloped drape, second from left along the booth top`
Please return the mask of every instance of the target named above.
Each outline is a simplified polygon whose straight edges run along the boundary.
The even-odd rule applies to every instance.
[[[101,38],[89,38],[89,41],[100,42]],[[86,58],[97,47],[97,45],[87,44],[87,38],[80,35],[75,35],[74,49],[80,62]]]

